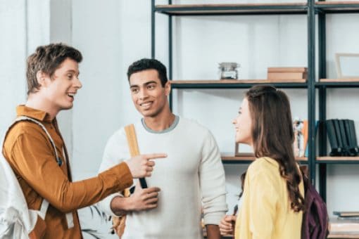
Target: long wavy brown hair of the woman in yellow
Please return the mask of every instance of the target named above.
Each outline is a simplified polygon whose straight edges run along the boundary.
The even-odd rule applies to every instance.
[[[301,174],[294,158],[291,106],[286,93],[273,86],[253,86],[246,92],[252,120],[251,134],[256,157],[271,157],[286,180],[291,209],[304,210],[299,191]]]

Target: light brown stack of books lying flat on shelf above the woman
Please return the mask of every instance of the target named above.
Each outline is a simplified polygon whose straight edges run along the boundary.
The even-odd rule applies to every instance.
[[[306,82],[307,67],[268,67],[267,79],[270,82]]]

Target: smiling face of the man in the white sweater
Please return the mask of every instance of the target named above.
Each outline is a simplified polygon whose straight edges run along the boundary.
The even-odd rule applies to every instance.
[[[170,82],[163,87],[157,70],[142,70],[130,75],[130,90],[134,106],[144,117],[156,117],[169,108]]]

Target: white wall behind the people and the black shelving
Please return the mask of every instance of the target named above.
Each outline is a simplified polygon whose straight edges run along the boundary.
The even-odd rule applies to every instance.
[[[174,1],[191,4],[197,1]],[[220,2],[211,0],[208,3]],[[245,1],[228,1],[239,3]],[[260,2],[260,1],[256,1]],[[261,1],[263,2],[263,1]],[[157,4],[166,1],[157,1]],[[27,6],[26,6],[27,4]],[[14,108],[25,101],[25,57],[35,46],[65,41],[82,51],[80,79],[83,87],[72,112],[59,120],[65,141],[73,148],[73,174],[84,179],[97,173],[108,137],[124,124],[138,120],[128,89],[128,65],[151,57],[150,1],[25,1],[0,0],[0,130],[14,117]],[[5,22],[5,24],[4,24]],[[168,65],[167,17],[156,15],[156,58]],[[327,18],[328,77],[336,77],[334,53],[359,52],[359,15]],[[241,79],[264,79],[267,67],[307,64],[307,31],[304,15],[215,16],[174,18],[174,79],[216,79],[218,63],[241,63]],[[307,118],[306,90],[285,90],[293,115]],[[15,92],[15,93],[14,93]],[[175,90],[174,112],[208,127],[222,152],[234,152],[232,119],[243,90]],[[345,101],[343,101],[345,96]],[[327,117],[351,118],[358,89],[330,89]],[[345,102],[345,103],[344,103]],[[229,208],[239,193],[239,176],[246,165],[225,165]],[[359,165],[330,165],[327,177],[329,213],[359,210]],[[85,227],[103,225],[82,210]],[[108,225],[101,228],[106,232]]]

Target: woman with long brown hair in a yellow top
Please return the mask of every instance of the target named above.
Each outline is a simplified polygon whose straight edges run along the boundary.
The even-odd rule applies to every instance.
[[[256,157],[244,179],[235,238],[301,238],[304,187],[288,97],[273,86],[253,86],[233,124],[236,142],[252,146]],[[233,233],[232,220],[222,219],[222,235]]]

